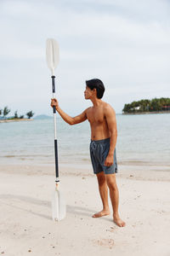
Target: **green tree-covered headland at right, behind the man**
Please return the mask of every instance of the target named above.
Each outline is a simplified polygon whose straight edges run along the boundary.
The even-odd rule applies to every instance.
[[[141,113],[170,110],[170,98],[154,98],[152,100],[140,100],[125,104],[122,111],[124,113]]]

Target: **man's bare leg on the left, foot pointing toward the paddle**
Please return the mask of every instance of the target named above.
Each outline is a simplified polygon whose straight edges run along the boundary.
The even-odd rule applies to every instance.
[[[101,212],[95,213],[92,216],[93,218],[99,218],[105,215],[109,215],[111,213],[109,209],[109,203],[108,203],[108,188],[107,188],[107,183],[105,179],[105,173],[99,172],[97,174],[97,178],[99,183],[99,195],[103,203],[103,210]]]

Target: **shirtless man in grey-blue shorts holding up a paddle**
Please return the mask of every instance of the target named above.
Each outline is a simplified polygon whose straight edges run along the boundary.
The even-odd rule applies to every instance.
[[[93,107],[87,108],[74,118],[59,108],[56,99],[51,100],[51,107],[55,107],[62,119],[69,125],[76,125],[88,119],[91,126],[90,156],[94,173],[98,178],[99,194],[103,203],[103,210],[92,217],[99,218],[111,213],[108,203],[109,188],[113,221],[118,226],[124,227],[125,222],[122,221],[118,212],[119,192],[116,185],[116,113],[111,105],[101,100],[104,91],[105,86],[101,80],[86,81],[84,97],[93,103]]]

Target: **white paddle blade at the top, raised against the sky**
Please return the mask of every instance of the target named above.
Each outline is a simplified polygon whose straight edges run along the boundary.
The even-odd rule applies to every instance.
[[[46,59],[52,75],[59,64],[59,44],[53,38],[48,38],[46,43]]]

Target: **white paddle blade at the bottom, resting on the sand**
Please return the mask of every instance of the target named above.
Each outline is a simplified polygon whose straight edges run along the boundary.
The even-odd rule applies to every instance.
[[[65,218],[65,215],[66,215],[65,198],[58,189],[55,189],[54,195],[52,198],[52,218],[54,221],[59,221]]]

